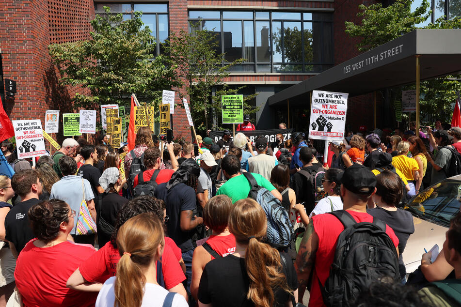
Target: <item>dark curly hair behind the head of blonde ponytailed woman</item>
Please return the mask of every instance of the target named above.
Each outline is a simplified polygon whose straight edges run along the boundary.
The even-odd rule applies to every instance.
[[[117,234],[120,227],[131,217],[142,213],[151,212],[157,215],[163,221],[163,210],[165,210],[165,202],[151,196],[139,196],[129,200],[118,213],[115,230],[112,233],[111,244],[117,249]]]

